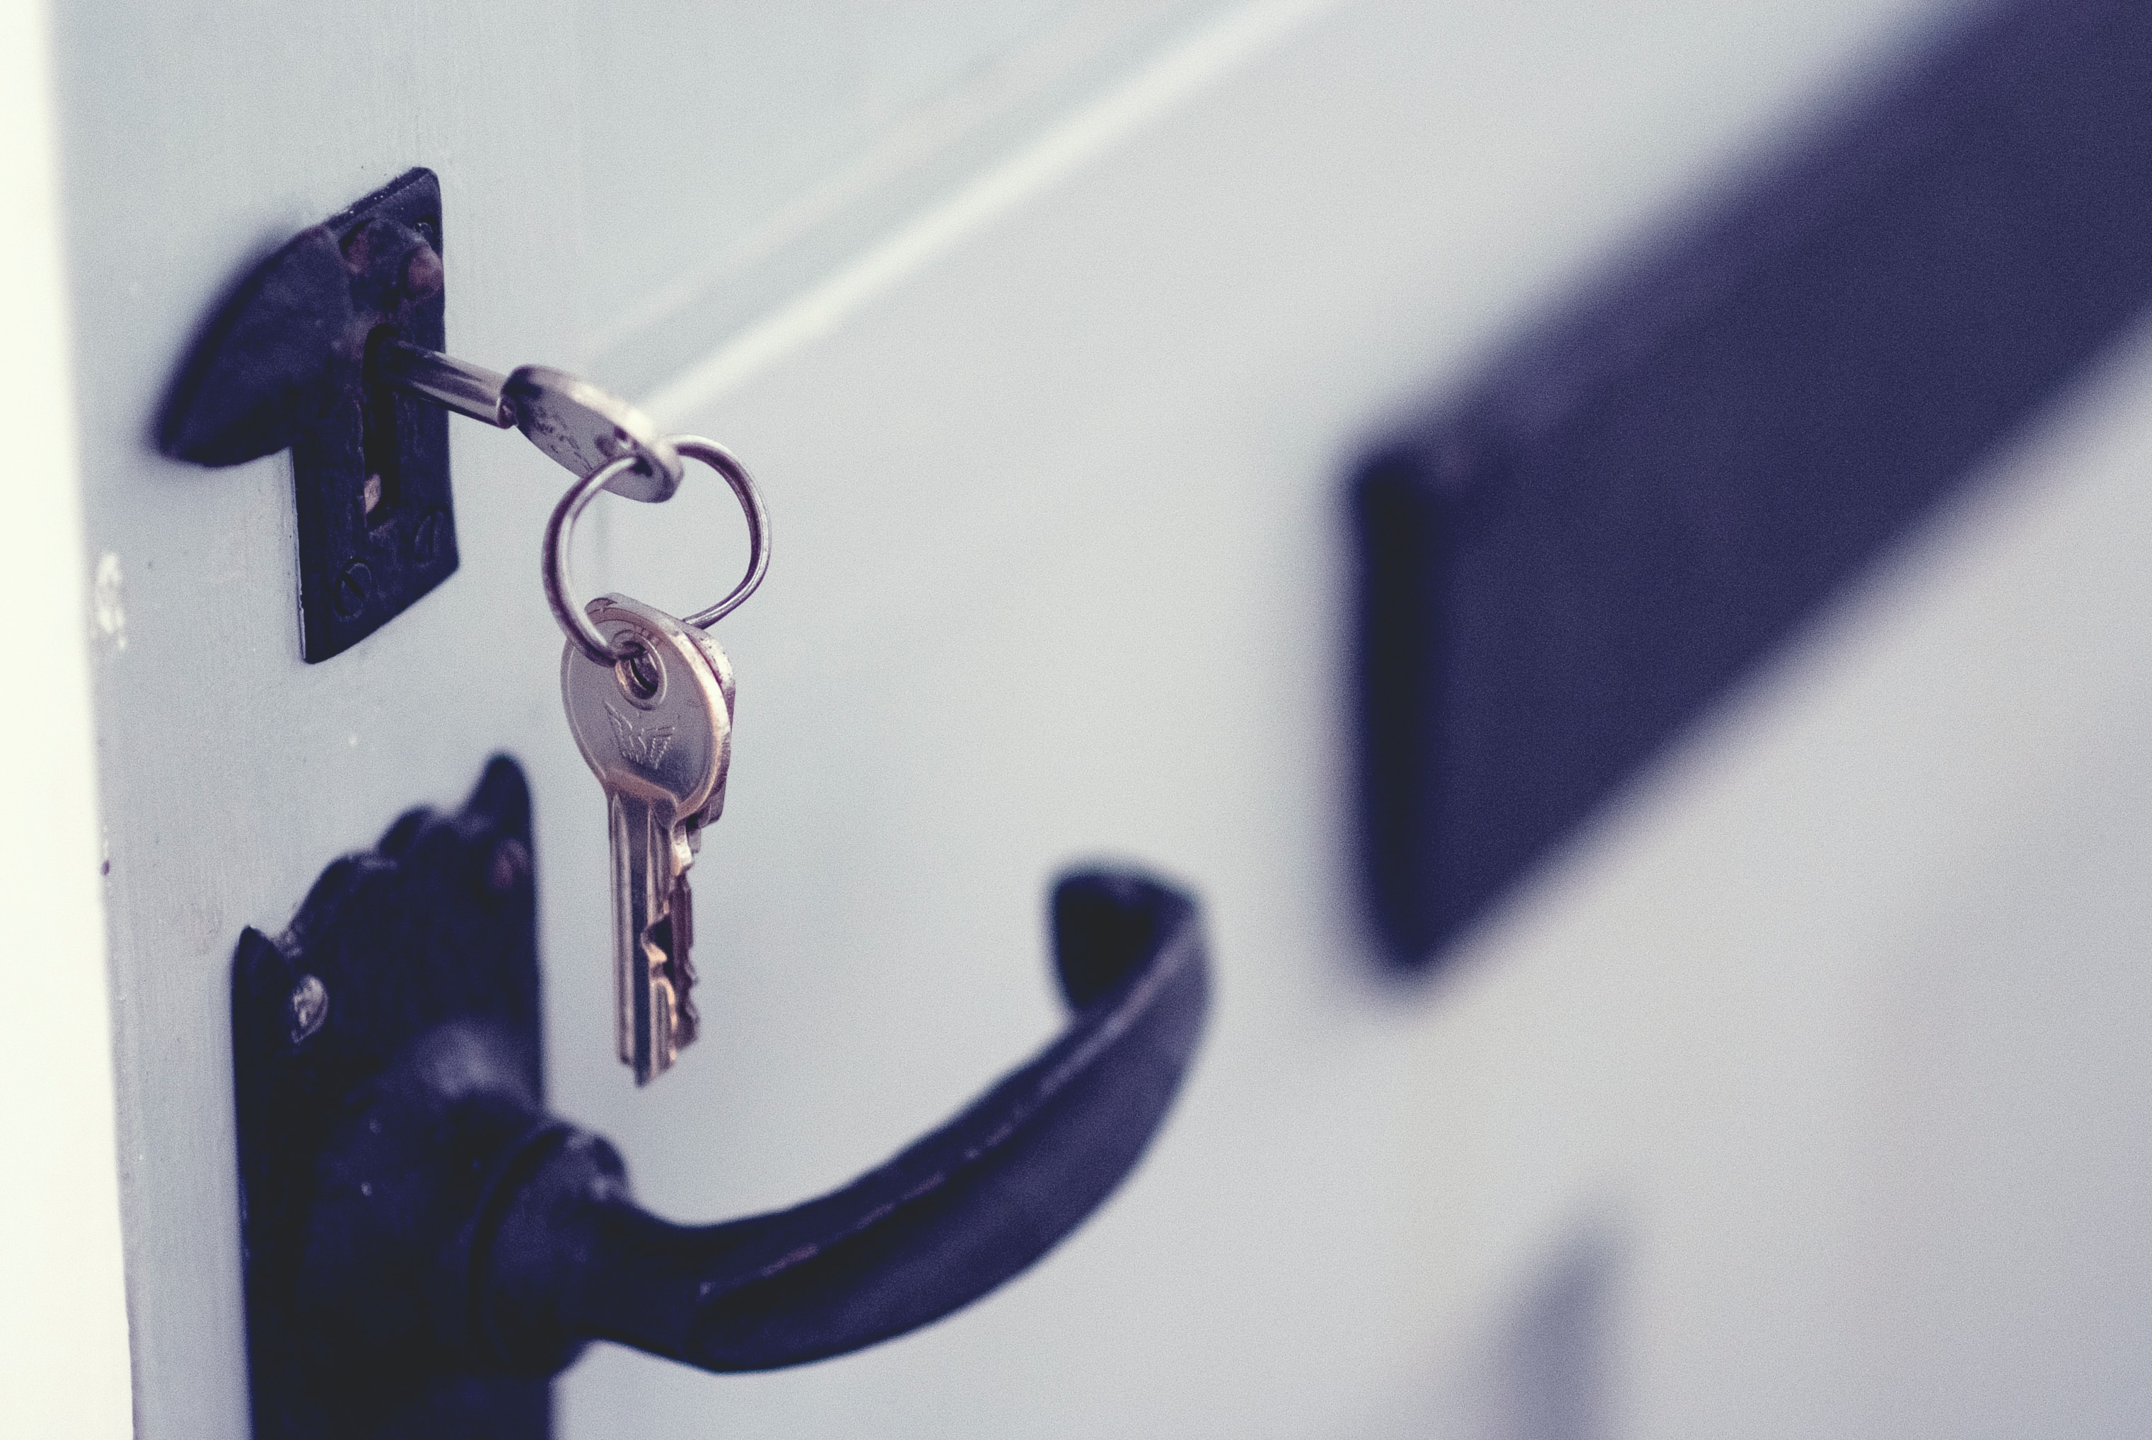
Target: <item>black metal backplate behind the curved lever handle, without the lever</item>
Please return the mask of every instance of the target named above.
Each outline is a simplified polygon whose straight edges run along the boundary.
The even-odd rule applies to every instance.
[[[306,975],[327,1005],[310,1033],[293,1025]],[[374,1106],[443,1025],[489,1044],[456,1053],[441,1096],[497,1102]],[[433,1216],[484,1184],[465,1160],[489,1154],[473,1126],[516,1132],[542,1111],[532,809],[512,760],[486,766],[463,811],[413,809],[377,850],[329,865],[284,936],[241,936],[232,1081],[254,1440],[544,1440],[547,1375],[443,1352],[439,1315],[461,1298],[417,1279]],[[383,1130],[383,1113],[398,1124]],[[411,1244],[366,1244],[385,1231]],[[355,1270],[370,1279],[327,1311],[306,1283]]]

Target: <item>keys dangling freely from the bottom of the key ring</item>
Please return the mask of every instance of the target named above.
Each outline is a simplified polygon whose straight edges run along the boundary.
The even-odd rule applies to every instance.
[[[592,601],[590,618],[615,648],[637,648],[598,665],[568,646],[562,697],[607,794],[620,1059],[646,1085],[695,1037],[686,870],[695,831],[723,792],[732,706],[699,631],[622,596]]]

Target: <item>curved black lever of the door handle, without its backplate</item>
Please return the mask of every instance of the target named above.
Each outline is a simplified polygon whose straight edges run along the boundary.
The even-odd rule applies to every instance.
[[[585,1337],[712,1371],[798,1365],[955,1311],[1076,1229],[1164,1119],[1205,1007],[1194,908],[1128,874],[1054,889],[1067,1031],[852,1184],[725,1225],[628,1199],[605,1141],[555,1130],[484,1257],[504,1360]]]

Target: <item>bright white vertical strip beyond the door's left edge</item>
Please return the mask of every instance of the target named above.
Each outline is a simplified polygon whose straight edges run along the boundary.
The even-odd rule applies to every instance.
[[[0,433],[15,484],[0,613],[24,637],[0,721],[0,1429],[131,1431],[88,566],[43,4],[0,9]]]

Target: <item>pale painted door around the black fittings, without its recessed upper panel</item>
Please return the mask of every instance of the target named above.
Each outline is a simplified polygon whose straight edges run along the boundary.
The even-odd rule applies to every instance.
[[[454,349],[598,355],[603,256],[562,220],[605,181],[579,168],[594,13],[60,17],[80,553],[118,557],[97,605],[125,613],[95,669],[142,1436],[243,1427],[239,926],[497,747],[538,794],[555,1104],[678,1216],[844,1180],[1050,1033],[1039,900],[1070,859],[1194,883],[1222,971],[1160,1147],[1039,1270],[781,1375],[596,1352],[564,1436],[2133,1431],[2141,347],[1433,984],[1369,977],[1347,874],[1349,456],[1928,6],[1311,11],[833,325],[676,392],[762,476],[777,564],[723,626],[710,1033],[639,1096],[532,564],[555,474],[458,428],[463,573],[306,667],[286,465],[196,474],[142,441],[245,252],[409,164],[443,177]],[[1235,13],[1270,9],[1175,34]],[[1020,50],[990,30],[966,43]],[[1063,133],[1009,125],[796,293]],[[712,491],[607,506],[594,577],[706,598],[736,566],[732,540],[684,549],[732,534]]]

